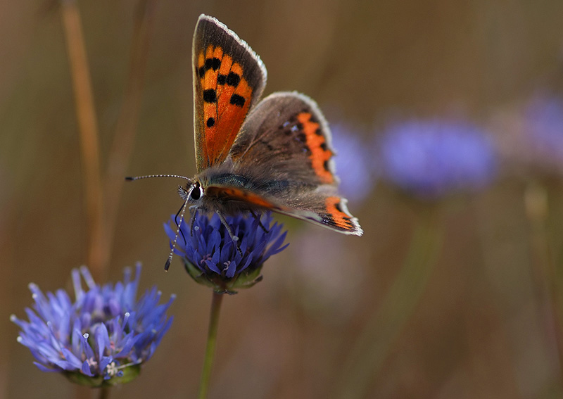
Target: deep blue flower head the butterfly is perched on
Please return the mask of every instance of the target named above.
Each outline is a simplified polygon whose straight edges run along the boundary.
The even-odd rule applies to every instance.
[[[220,217],[198,214],[194,220],[194,232],[190,223],[182,220],[183,234],[178,236],[175,253],[182,256],[186,271],[198,283],[213,287],[216,292],[236,293],[235,289],[253,286],[262,279],[260,270],[270,256],[283,251],[287,232],[281,232],[283,224],[272,225],[270,213],[260,219],[237,215],[226,217],[234,236],[239,237],[241,252],[221,223]],[[175,238],[175,218],[165,224],[165,232]]]

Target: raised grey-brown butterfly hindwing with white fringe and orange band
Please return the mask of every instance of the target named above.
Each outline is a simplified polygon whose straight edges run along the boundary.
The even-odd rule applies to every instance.
[[[334,153],[317,104],[303,94],[279,92],[260,101],[248,115],[229,158],[243,175],[269,175],[316,187],[338,184]]]

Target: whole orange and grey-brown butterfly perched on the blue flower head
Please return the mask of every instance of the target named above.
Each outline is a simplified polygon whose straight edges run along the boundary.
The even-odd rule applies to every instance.
[[[362,235],[338,194],[331,134],[315,101],[295,91],[260,101],[265,65],[216,18],[199,16],[192,51],[197,175],[179,186],[192,229],[198,210],[215,212],[236,241],[224,215],[272,210]]]

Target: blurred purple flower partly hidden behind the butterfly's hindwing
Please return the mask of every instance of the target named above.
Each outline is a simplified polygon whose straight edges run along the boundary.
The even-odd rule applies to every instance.
[[[365,200],[375,184],[374,151],[349,125],[332,124],[332,144],[336,148],[334,163],[340,178],[339,190],[352,203]]]

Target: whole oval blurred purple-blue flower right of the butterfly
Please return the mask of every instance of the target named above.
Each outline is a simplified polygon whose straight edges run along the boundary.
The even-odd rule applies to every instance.
[[[493,144],[466,122],[411,120],[392,125],[381,141],[388,180],[423,199],[475,191],[497,172]]]

